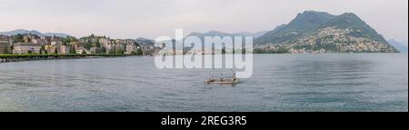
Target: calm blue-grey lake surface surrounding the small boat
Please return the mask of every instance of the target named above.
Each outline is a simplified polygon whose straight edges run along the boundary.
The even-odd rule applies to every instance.
[[[252,78],[205,85],[213,73],[154,57],[0,64],[0,111],[408,111],[407,54],[254,55]]]

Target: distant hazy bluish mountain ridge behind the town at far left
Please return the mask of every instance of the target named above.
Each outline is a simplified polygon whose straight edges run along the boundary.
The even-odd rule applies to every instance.
[[[29,30],[25,30],[25,29],[17,29],[17,30],[8,31],[8,32],[0,32],[0,35],[8,35],[8,36],[18,35],[18,34],[20,34],[20,35],[29,35],[29,34],[31,34],[31,35],[37,35],[37,36],[54,36],[55,35],[55,36],[59,36],[59,37],[70,36],[70,35],[66,35],[66,34],[62,34],[62,33],[45,33],[45,34],[43,34],[43,33],[38,32],[36,30],[29,31]]]

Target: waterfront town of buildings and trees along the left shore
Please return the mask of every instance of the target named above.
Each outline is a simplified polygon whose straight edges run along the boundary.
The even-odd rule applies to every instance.
[[[155,45],[136,39],[111,39],[102,35],[74,36],[0,35],[0,54],[40,55],[155,55]]]

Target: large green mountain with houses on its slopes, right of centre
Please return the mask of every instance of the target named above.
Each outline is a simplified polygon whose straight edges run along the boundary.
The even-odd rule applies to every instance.
[[[357,15],[316,11],[298,14],[287,25],[256,38],[254,45],[283,45],[289,51],[308,52],[397,52]]]

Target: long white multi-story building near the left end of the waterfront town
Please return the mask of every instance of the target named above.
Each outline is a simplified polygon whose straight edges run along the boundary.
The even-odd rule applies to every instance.
[[[33,43],[16,43],[14,45],[13,54],[39,54],[41,45]]]

